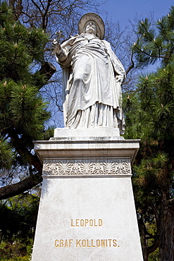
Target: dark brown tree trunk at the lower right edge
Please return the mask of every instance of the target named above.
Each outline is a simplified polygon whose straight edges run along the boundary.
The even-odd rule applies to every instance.
[[[166,198],[165,195],[163,198]],[[163,200],[159,231],[159,260],[174,260],[174,199]]]

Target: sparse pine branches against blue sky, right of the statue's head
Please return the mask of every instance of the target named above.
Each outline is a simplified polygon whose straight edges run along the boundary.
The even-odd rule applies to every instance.
[[[160,59],[163,66],[173,63],[173,13],[171,6],[167,16],[163,16],[156,25],[149,19],[139,21],[137,28],[138,40],[132,49],[135,51],[137,66],[147,66]]]

